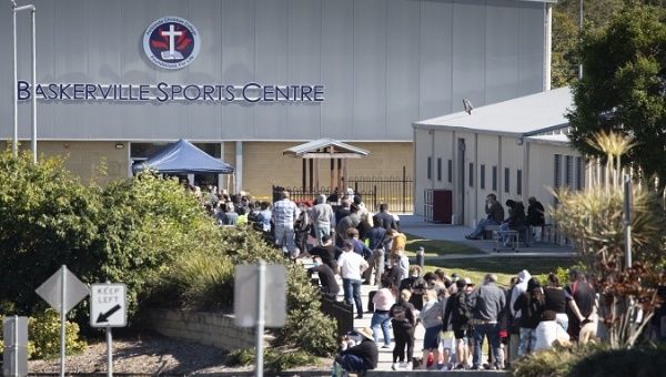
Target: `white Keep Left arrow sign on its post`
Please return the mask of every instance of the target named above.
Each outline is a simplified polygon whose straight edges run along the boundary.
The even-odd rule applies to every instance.
[[[111,328],[128,325],[128,287],[124,284],[93,284],[90,292],[90,326],[107,332],[107,376],[113,376]]]

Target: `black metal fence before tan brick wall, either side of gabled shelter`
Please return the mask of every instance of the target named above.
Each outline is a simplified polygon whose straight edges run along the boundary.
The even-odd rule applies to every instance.
[[[387,203],[391,212],[412,213],[414,211],[414,181],[406,176],[404,170],[402,177],[350,177],[347,186],[354,188],[354,193],[361,195],[365,205],[373,212],[379,211],[381,203]],[[302,186],[273,186],[273,202],[280,200],[280,193],[284,190],[289,191],[290,197],[294,202],[314,202],[320,194],[326,195],[331,202],[337,202],[335,188],[319,187],[313,191]]]

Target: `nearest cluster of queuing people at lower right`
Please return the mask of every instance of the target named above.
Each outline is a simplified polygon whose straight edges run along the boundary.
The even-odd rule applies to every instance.
[[[569,271],[565,286],[555,274],[542,286],[522,271],[508,288],[501,287],[494,274],[485,275],[477,286],[470,278],[447,276],[443,269],[424,275],[418,266],[410,271],[400,286],[383,279],[372,297],[375,349],[391,348],[395,342],[394,370],[504,369],[523,355],[554,345],[587,343],[597,336],[595,289],[576,269]],[[421,360],[414,357],[417,326],[425,329]],[[353,355],[354,347],[346,347],[344,354]],[[369,355],[367,345],[364,355]],[[370,355],[376,366],[376,353]],[[373,364],[365,367],[371,369]]]

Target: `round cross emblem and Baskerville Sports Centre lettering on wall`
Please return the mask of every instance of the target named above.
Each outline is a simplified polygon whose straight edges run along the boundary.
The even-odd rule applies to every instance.
[[[178,70],[199,55],[201,37],[190,21],[179,17],[155,20],[143,33],[143,51],[157,67]],[[324,101],[324,85],[315,84],[120,84],[120,83],[38,83],[17,82],[17,98],[27,101],[36,95],[41,101],[200,101],[209,103],[303,102]]]

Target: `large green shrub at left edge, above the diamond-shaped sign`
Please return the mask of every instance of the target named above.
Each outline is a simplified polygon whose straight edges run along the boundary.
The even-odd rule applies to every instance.
[[[100,236],[99,190],[82,185],[62,161],[32,164],[0,152],[0,302],[29,315],[34,289],[62,264],[88,281],[98,266],[90,248]]]

